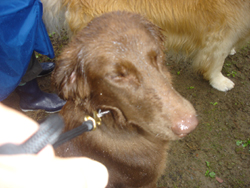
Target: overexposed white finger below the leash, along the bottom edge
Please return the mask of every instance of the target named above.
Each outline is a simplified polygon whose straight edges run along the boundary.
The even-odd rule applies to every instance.
[[[104,188],[107,181],[107,169],[88,158],[0,157],[0,184],[3,187]]]

